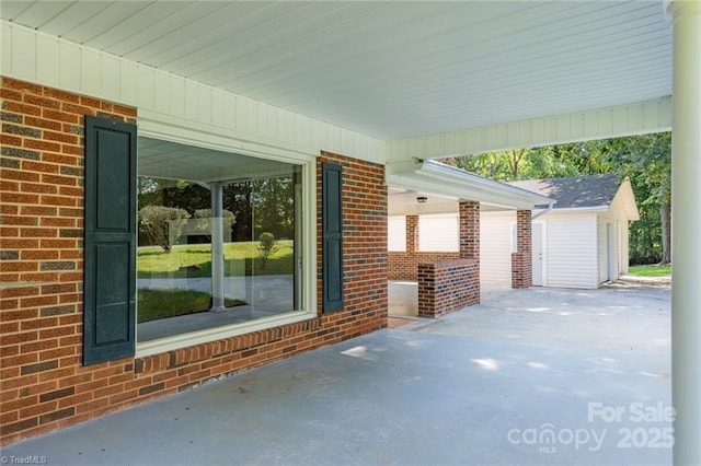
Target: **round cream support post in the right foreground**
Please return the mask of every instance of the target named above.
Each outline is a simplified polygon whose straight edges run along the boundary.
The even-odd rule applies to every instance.
[[[674,463],[701,464],[701,1],[675,0],[671,135]]]

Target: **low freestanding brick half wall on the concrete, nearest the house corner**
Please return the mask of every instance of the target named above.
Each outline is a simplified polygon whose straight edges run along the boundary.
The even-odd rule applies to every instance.
[[[480,263],[470,259],[418,265],[418,315],[440,317],[480,303]]]

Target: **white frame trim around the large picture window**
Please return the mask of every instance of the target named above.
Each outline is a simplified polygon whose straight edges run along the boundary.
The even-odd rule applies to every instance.
[[[223,338],[245,335],[256,330],[309,321],[317,317],[317,156],[318,154],[302,154],[300,152],[287,152],[284,149],[252,148],[245,142],[222,137],[211,138],[205,132],[188,132],[183,137],[183,128],[163,123],[139,119],[139,136],[161,139],[170,142],[179,142],[188,145],[214,149],[223,152],[233,152],[260,159],[271,159],[279,162],[301,165],[302,171],[302,310],[290,311],[269,317],[258,318],[243,323],[226,325],[221,327],[206,328],[203,330],[174,335],[139,342],[136,335],[135,358],[158,354],[180,348],[186,348]],[[138,154],[137,154],[138,156]],[[135,325],[137,325],[135,323]],[[136,328],[138,334],[138,326]]]

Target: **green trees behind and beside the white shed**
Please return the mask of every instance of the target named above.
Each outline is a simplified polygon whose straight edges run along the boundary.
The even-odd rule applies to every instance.
[[[670,132],[490,152],[444,162],[499,182],[611,172],[628,176],[640,213],[640,221],[630,228],[631,264],[666,264],[671,258]]]

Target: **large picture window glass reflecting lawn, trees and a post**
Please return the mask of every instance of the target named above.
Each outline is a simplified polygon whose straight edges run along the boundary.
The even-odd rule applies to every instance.
[[[137,342],[303,308],[302,168],[139,138]]]

